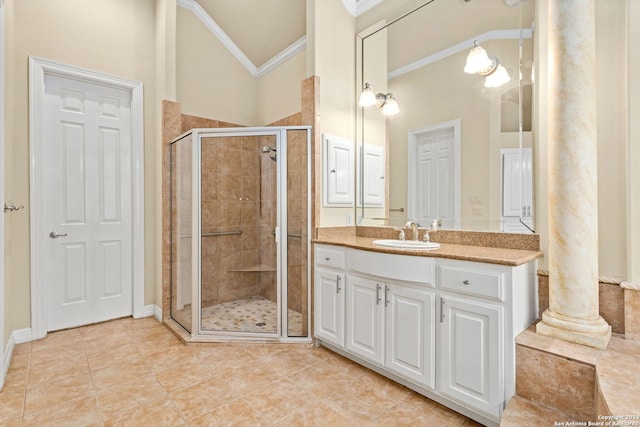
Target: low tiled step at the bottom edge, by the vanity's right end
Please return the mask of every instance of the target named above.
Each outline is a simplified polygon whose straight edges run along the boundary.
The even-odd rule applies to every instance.
[[[571,420],[567,414],[514,396],[502,414],[500,427],[548,427]]]

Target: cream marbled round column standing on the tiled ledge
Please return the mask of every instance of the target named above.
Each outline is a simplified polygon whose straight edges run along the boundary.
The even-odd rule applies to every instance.
[[[549,308],[537,332],[606,348],[598,304],[594,0],[549,0]]]

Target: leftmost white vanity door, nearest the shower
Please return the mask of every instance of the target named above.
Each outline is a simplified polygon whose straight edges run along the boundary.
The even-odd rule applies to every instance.
[[[316,337],[344,347],[344,282],[340,271],[316,268]]]

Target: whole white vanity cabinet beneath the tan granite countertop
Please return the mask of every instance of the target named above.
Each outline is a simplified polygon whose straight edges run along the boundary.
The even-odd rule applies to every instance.
[[[318,342],[482,424],[499,425],[515,394],[515,337],[537,318],[537,262],[342,248],[336,263],[330,248],[316,245]]]

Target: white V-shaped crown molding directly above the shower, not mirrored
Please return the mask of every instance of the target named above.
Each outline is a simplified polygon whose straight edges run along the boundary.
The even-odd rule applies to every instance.
[[[0,0],[3,1],[3,0]],[[343,0],[344,1],[344,0]],[[351,0],[353,1],[353,0]],[[177,0],[178,6],[191,11],[213,33],[213,35],[227,48],[227,50],[240,62],[253,77],[262,77],[280,64],[291,59],[307,47],[307,36],[302,36],[289,47],[276,56],[256,67],[253,62],[242,52],[233,40],[225,33],[213,18],[195,0]]]

